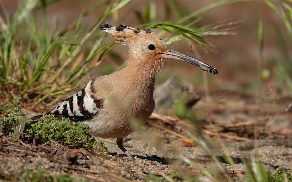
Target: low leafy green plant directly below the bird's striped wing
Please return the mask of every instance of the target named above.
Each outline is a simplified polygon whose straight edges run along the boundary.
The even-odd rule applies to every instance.
[[[28,119],[28,123],[32,121]],[[92,135],[87,131],[88,125],[72,121],[68,118],[62,117],[58,120],[53,114],[46,114],[42,116],[37,123],[31,125],[31,129],[27,131],[27,136],[35,138],[38,143],[49,142],[52,139],[56,142],[62,142],[70,148],[83,147],[91,151],[107,152],[107,148],[102,140],[97,141],[92,138]],[[97,150],[94,147],[102,145]]]

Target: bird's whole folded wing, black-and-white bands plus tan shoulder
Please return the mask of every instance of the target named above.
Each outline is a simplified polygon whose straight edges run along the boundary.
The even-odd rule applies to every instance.
[[[100,112],[105,98],[112,90],[112,85],[104,82],[103,77],[90,80],[81,91],[60,103],[47,114],[55,114],[57,117],[64,116],[72,121],[92,119]]]

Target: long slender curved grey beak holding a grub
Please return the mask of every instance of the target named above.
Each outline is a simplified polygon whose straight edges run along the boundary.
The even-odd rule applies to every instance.
[[[181,61],[185,61],[187,63],[191,63],[193,65],[199,66],[204,71],[218,74],[218,71],[216,70],[216,68],[212,68],[211,66],[207,65],[206,63],[204,63],[196,58],[193,58],[191,56],[187,56],[183,53],[176,52],[174,50],[169,50],[168,53],[161,53],[161,54],[163,54],[164,58],[178,59]]]

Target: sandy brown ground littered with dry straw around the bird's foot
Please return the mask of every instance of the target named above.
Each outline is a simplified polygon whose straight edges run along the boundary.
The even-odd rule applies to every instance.
[[[200,167],[219,169],[209,154],[186,134],[202,137],[199,128],[218,141],[221,150],[233,160],[233,164],[227,164],[217,154],[221,166],[234,179],[245,174],[243,160],[252,162],[256,155],[267,170],[273,171],[279,166],[292,169],[292,112],[289,107],[292,98],[279,98],[275,102],[269,99],[271,95],[272,92],[257,103],[252,103],[253,98],[227,92],[219,99],[218,96],[202,98],[192,109],[204,120],[195,125],[174,116],[154,113],[143,130],[124,139],[124,146],[135,156],[135,161],[128,160],[115,142],[108,139],[104,140],[108,151],[117,154],[94,156],[78,149],[78,152],[73,151],[77,160],[69,162],[70,149],[61,144],[34,145],[12,142],[4,137],[0,143],[2,169],[4,174],[13,176],[20,174],[22,168],[31,172],[45,168],[49,174],[68,173],[90,181],[143,181],[149,174],[162,177],[177,169],[183,174],[201,176]],[[197,162],[199,167],[187,165],[184,158]]]

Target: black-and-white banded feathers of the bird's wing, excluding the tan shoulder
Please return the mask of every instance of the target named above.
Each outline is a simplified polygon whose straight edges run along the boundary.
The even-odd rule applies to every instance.
[[[47,114],[64,116],[72,121],[84,121],[92,119],[100,111],[104,98],[95,98],[92,91],[93,82],[91,80],[81,91],[60,103],[55,109]]]

